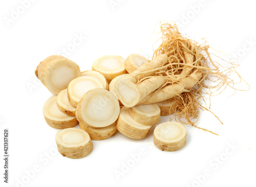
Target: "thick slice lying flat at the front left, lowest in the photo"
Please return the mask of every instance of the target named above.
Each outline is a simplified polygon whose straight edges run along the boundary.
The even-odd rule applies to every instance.
[[[67,134],[67,131],[73,131],[73,130],[77,131],[77,133],[79,133],[80,136],[83,136],[84,141],[78,144],[73,144],[73,145],[72,143],[71,144],[66,143],[65,138],[63,139],[61,137],[61,134],[65,132],[63,132],[63,130],[58,132],[56,134],[55,139],[56,139],[58,151],[62,156],[72,158],[72,159],[78,159],[78,158],[84,158],[89,154],[91,154],[91,152],[93,151],[93,144],[89,134],[86,131],[82,129],[77,129],[77,128],[68,128],[64,130],[66,130],[65,131],[66,134]],[[66,136],[69,136],[69,134]],[[72,136],[68,137],[68,139],[71,139],[71,138]]]

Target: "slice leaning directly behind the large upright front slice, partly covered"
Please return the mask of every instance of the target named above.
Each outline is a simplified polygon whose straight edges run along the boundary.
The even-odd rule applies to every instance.
[[[103,88],[103,85],[94,77],[82,76],[72,80],[68,86],[69,102],[76,107],[82,96],[95,88]]]

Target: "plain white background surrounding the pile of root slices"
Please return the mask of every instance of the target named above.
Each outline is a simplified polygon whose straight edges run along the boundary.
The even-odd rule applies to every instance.
[[[10,183],[4,186],[256,185],[253,1],[114,0],[118,5],[112,7],[109,0],[38,0],[26,8],[20,2],[1,1],[0,5],[1,155],[3,129],[10,131]],[[82,71],[91,69],[102,55],[152,56],[155,40],[151,35],[159,29],[160,20],[177,21],[181,33],[196,40],[205,38],[212,48],[239,58],[237,71],[251,89],[231,97],[233,90],[226,89],[212,98],[211,111],[224,125],[210,112],[201,112],[197,123],[219,136],[186,125],[186,146],[177,152],[162,152],[153,144],[152,128],[141,140],[117,132],[105,141],[93,141],[94,150],[86,158],[73,160],[56,153],[59,130],[48,126],[42,115],[42,106],[53,94],[34,76],[39,62],[67,49],[76,35],[86,39],[66,56]],[[238,86],[247,88],[244,83]],[[230,145],[235,145],[233,150]],[[145,154],[131,161],[131,154],[140,149]],[[124,171],[127,162],[135,163]],[[2,158],[0,164],[2,186]],[[117,171],[123,173],[119,178]],[[205,172],[209,174],[203,177]]]

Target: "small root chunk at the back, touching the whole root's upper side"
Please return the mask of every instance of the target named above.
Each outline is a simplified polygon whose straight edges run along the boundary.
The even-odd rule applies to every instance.
[[[133,71],[135,71],[135,69],[137,69],[139,66],[141,66],[144,62],[150,61],[147,58],[138,55],[136,53],[133,53],[131,55],[129,55],[129,57],[126,58],[126,60],[124,61],[124,67],[126,69],[126,71],[130,74]]]

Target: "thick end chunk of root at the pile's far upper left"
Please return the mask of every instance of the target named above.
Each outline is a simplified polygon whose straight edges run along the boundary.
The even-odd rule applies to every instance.
[[[68,87],[70,81],[79,77],[81,72],[75,62],[53,55],[40,62],[35,75],[50,91],[58,94]]]

